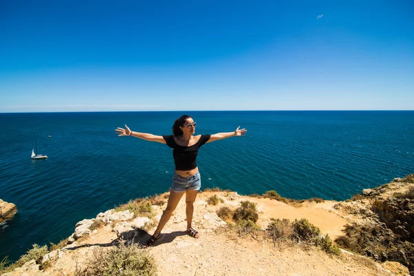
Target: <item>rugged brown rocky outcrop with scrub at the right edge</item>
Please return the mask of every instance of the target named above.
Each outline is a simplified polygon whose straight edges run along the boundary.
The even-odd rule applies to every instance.
[[[353,252],[407,266],[414,275],[414,175],[362,191],[334,209],[350,222],[336,242]]]

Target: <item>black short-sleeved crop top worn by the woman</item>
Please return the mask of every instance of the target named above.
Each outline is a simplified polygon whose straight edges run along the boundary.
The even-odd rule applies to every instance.
[[[174,157],[175,170],[193,170],[197,168],[198,150],[210,139],[210,135],[201,135],[199,141],[193,146],[179,146],[175,143],[174,136],[163,135],[162,137],[166,140],[167,145],[174,149],[172,150],[172,157]]]

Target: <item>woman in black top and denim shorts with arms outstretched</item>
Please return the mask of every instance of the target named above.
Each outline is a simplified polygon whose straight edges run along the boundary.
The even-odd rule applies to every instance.
[[[172,157],[174,157],[175,172],[170,187],[170,196],[166,210],[164,210],[159,220],[154,235],[148,239],[147,246],[152,246],[161,235],[170,219],[172,212],[177,207],[181,197],[186,194],[186,216],[187,216],[187,232],[191,237],[199,238],[199,233],[195,230],[191,223],[193,221],[194,206],[193,203],[197,197],[198,190],[201,188],[201,177],[197,167],[196,159],[199,148],[206,143],[225,139],[233,136],[241,136],[246,133],[246,129],[239,129],[234,132],[220,132],[213,135],[194,135],[196,123],[192,117],[182,115],[175,120],[172,126],[173,135],[157,136],[149,133],[141,133],[130,130],[125,125],[124,128],[117,128],[118,136],[133,136],[147,141],[155,141],[167,144],[173,148]]]

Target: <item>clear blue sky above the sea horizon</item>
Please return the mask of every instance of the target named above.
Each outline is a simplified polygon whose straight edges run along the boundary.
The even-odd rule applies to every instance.
[[[0,112],[414,110],[414,1],[0,1]]]

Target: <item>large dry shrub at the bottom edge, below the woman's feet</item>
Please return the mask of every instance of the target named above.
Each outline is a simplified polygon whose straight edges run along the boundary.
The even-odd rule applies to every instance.
[[[123,275],[123,276],[152,276],[157,275],[155,259],[147,250],[135,244],[110,250],[95,248],[93,257],[86,262],[86,268],[77,271],[79,276]]]

